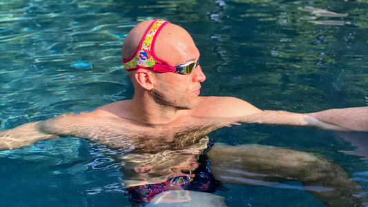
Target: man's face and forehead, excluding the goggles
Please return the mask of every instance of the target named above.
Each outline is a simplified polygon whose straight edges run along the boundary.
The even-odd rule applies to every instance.
[[[162,29],[162,35],[166,36],[157,38],[155,52],[171,66],[195,62],[200,57],[191,35],[183,28],[168,24]],[[192,109],[197,106],[200,83],[206,79],[200,66],[189,75],[165,72],[156,73],[156,77],[152,91],[156,103],[178,109]]]

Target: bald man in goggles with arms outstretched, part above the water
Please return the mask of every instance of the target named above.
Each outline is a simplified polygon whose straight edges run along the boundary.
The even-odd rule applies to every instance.
[[[124,41],[122,57],[135,88],[133,99],[5,130],[0,132],[0,150],[69,135],[135,153],[187,150],[209,132],[238,122],[368,131],[368,107],[298,114],[260,110],[233,97],[199,97],[206,79],[200,52],[186,30],[167,21],[135,26]],[[141,174],[153,170],[152,165],[134,168]],[[191,171],[182,175],[190,177]]]

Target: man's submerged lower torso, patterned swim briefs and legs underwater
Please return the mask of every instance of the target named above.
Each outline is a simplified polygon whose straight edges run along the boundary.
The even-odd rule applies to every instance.
[[[228,191],[222,184],[307,190],[329,206],[354,206],[365,201],[365,192],[349,179],[347,172],[305,152],[271,146],[217,144],[207,154],[195,157],[197,154],[181,150],[122,157],[124,168],[128,170],[126,175],[130,177],[122,181],[130,203],[133,206],[151,201],[195,204],[198,200],[190,195],[184,200],[183,197],[166,197],[157,201],[157,197],[162,199],[161,194],[170,190],[174,195],[175,190]],[[289,184],[284,184],[286,181]],[[362,197],[357,196],[359,194]],[[204,194],[203,197],[211,196]]]

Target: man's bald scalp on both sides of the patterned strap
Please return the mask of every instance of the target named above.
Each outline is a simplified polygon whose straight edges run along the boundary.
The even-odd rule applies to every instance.
[[[142,21],[128,33],[123,44],[123,60],[135,55],[144,32],[146,32],[152,21],[153,20]],[[153,52],[155,52],[155,55],[159,59],[167,61],[171,66],[178,66],[188,61],[195,61],[195,59],[199,57],[199,52],[195,47],[191,35],[186,32],[184,28],[173,23],[166,24],[163,26],[162,30],[159,31]]]

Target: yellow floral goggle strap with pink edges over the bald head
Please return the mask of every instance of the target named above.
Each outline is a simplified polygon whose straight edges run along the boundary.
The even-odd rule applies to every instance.
[[[146,30],[144,33],[135,55],[123,61],[126,70],[131,71],[137,70],[139,68],[153,70],[155,63],[162,63],[162,61],[157,60],[155,57],[153,46],[155,44],[159,30],[161,30],[162,26],[164,26],[166,23],[169,22],[161,19],[155,19],[155,21],[148,26],[148,30]]]

